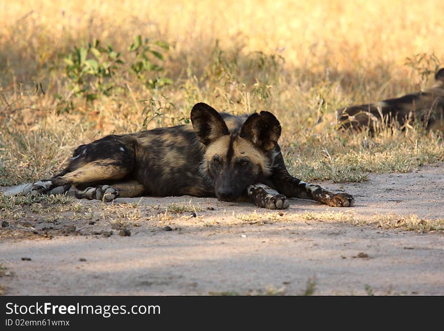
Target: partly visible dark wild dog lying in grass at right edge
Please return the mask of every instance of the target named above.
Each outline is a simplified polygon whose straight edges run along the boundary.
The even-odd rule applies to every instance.
[[[337,110],[342,128],[360,129],[368,127],[374,132],[397,121],[401,128],[420,120],[428,129],[444,130],[444,68],[435,75],[435,85],[423,92],[407,94],[372,104],[350,106]]]

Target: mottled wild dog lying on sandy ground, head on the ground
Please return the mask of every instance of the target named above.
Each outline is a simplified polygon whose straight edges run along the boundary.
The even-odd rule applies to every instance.
[[[32,185],[31,194],[71,185],[78,198],[111,201],[142,195],[217,197],[285,209],[289,197],[349,207],[353,196],[331,193],[291,176],[273,114],[218,113],[204,103],[191,110],[191,124],[134,134],[110,135],[79,146],[66,169]],[[60,189],[61,188],[61,189]]]

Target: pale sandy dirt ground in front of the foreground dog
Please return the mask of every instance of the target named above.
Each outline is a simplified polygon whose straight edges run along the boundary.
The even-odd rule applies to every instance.
[[[15,235],[11,222],[0,229],[0,284],[6,295],[444,295],[444,232],[363,224],[385,213],[444,218],[444,164],[320,184],[353,194],[355,206],[292,199],[280,212],[213,198],[118,198],[139,203],[130,236],[106,219],[59,218],[53,226],[65,230],[46,237],[44,222],[35,236]],[[174,203],[197,209],[143,220]]]

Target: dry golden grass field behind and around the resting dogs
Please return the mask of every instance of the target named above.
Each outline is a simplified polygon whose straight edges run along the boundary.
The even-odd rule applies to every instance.
[[[146,119],[148,128],[184,122],[198,101],[273,112],[287,164],[305,180],[362,181],[442,160],[441,134],[313,127],[340,106],[424,88],[422,72],[444,64],[443,12],[439,0],[1,2],[0,185],[48,177],[77,145],[142,129]],[[173,84],[147,88],[123,67],[109,97],[71,93],[63,58],[74,46],[99,39],[129,59],[137,34],[171,45],[161,64]],[[438,60],[414,70],[405,63],[418,53]],[[161,115],[149,121],[151,99]]]

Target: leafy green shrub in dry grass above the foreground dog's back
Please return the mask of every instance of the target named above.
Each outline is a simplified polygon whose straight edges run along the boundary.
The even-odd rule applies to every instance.
[[[156,49],[154,49],[156,47]],[[74,47],[74,50],[64,57],[65,73],[69,81],[70,94],[67,98],[56,95],[61,100],[64,110],[72,109],[71,97],[83,97],[92,101],[100,96],[110,96],[123,90],[117,74],[122,77],[128,72],[136,75],[147,88],[158,89],[172,84],[171,79],[160,77],[163,67],[158,62],[163,61],[161,51],[168,51],[169,45],[161,41],[151,41],[134,36],[134,42],[127,52],[116,51],[111,45],[102,47],[98,40],[88,44],[88,47]],[[127,60],[124,60],[127,57]],[[157,61],[154,61],[154,58]],[[156,63],[157,62],[157,63]],[[130,71],[126,70],[130,68]]]

